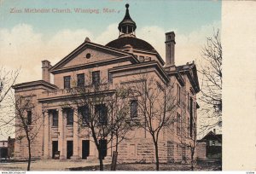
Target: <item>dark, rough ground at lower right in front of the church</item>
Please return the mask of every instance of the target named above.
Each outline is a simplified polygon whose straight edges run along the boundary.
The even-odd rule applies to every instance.
[[[87,166],[71,168],[71,171],[98,171],[99,166]],[[119,164],[117,171],[154,171],[155,164]],[[195,171],[221,171],[220,162],[201,161],[195,165]],[[110,165],[104,165],[104,171],[110,171]],[[191,171],[191,165],[183,164],[160,164],[160,171]]]

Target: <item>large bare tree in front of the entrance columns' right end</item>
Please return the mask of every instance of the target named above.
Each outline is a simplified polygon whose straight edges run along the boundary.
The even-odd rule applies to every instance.
[[[130,130],[125,122],[128,114],[125,93],[123,90],[113,90],[110,86],[111,84],[103,79],[86,86],[79,84],[78,87],[70,89],[73,99],[65,102],[69,107],[78,107],[79,128],[90,131],[99,154],[101,171],[107,149],[115,146],[117,151],[118,144],[125,139],[125,135]],[[113,141],[114,144],[111,143]],[[107,147],[109,143],[111,146]]]

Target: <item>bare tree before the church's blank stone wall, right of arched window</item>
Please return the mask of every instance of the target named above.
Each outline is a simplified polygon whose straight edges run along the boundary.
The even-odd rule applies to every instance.
[[[137,122],[139,128],[149,133],[154,142],[156,171],[159,171],[160,132],[173,123],[176,100],[173,97],[173,84],[142,75],[134,83],[128,84],[133,96],[137,96],[138,113],[143,121]],[[131,111],[132,112],[132,111]]]

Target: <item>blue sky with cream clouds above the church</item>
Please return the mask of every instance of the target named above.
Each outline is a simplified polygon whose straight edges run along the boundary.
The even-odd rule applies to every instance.
[[[52,65],[89,37],[108,44],[119,37],[118,24],[130,4],[137,38],[152,44],[165,60],[165,33],[176,33],[176,65],[200,61],[213,29],[221,28],[221,1],[0,0],[0,67],[20,68],[18,83],[41,79],[41,61]],[[48,13],[26,13],[44,9]],[[56,13],[57,10],[71,13]],[[94,10],[75,13],[75,9]],[[112,10],[104,13],[103,9]],[[98,11],[98,13],[95,13]],[[14,12],[14,13],[12,13]]]

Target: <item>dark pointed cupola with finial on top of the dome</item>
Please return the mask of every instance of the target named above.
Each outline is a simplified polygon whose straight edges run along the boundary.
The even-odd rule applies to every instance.
[[[125,4],[126,13],[124,20],[119,23],[119,37],[130,35],[131,37],[135,37],[135,30],[137,28],[136,23],[131,20],[131,16],[129,14],[129,4]]]

